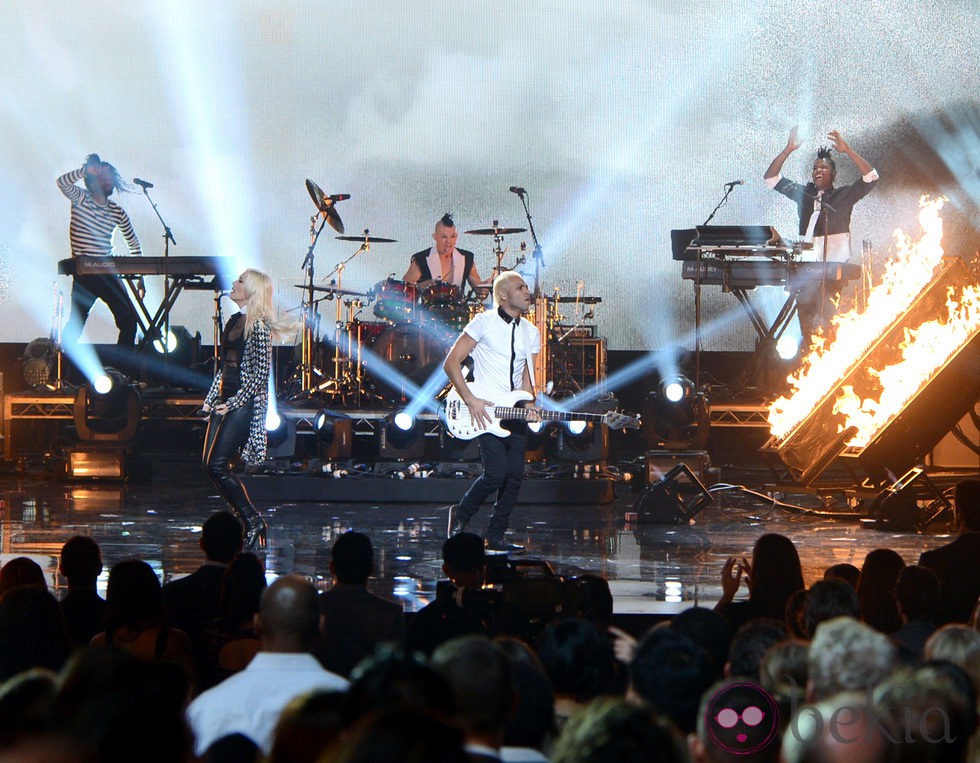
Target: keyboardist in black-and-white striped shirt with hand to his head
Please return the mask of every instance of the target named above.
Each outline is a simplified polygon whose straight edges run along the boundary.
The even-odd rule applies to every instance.
[[[79,180],[84,181],[84,188],[78,185]],[[90,154],[82,167],[58,178],[58,188],[71,201],[68,235],[73,257],[111,257],[112,235],[116,228],[126,240],[130,254],[141,254],[140,242],[129,215],[109,200],[115,189],[125,190],[115,167],[103,162],[98,154]],[[116,328],[119,329],[117,344],[131,346],[136,339],[136,309],[122,279],[108,274],[74,276],[71,313],[62,334],[62,344],[70,346],[78,341],[97,299],[105,302],[112,312]]]

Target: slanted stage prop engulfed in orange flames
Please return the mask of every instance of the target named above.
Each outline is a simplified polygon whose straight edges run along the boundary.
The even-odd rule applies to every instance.
[[[943,201],[920,202],[921,238],[895,232],[865,309],[834,317],[770,406],[763,452],[796,482],[813,483],[836,459],[873,484],[893,481],[980,397],[980,286],[944,256]]]

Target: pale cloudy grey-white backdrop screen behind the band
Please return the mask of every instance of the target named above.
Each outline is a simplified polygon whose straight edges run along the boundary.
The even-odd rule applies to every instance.
[[[785,168],[796,178],[835,128],[872,164],[895,166],[901,126],[975,108],[980,81],[972,0],[6,0],[0,25],[0,341],[46,335],[55,290],[67,296],[56,263],[69,256],[69,204],[54,181],[97,152],[155,184],[171,254],[266,269],[283,309],[301,298],[306,178],[351,194],[338,206],[348,233],[398,240],[349,265],[343,285],[361,291],[400,277],[446,211],[461,231],[525,227],[508,192],[523,186],[542,288],[573,294],[581,281],[601,296],[610,348],[662,347],[693,327],[671,228],[702,222],[723,184],[744,179],[714,222],[795,232],[793,206],[761,181],[790,127],[806,138]],[[976,122],[945,141],[951,165],[972,151],[972,165],[951,169],[967,180],[942,190],[975,215]],[[840,181],[856,177],[838,164]],[[879,258],[894,228],[915,229],[926,190],[882,175],[852,222]],[[116,200],[144,253],[162,254],[146,199]],[[522,240],[530,251],[526,235],[508,238],[505,264]],[[490,245],[460,237],[483,274]],[[356,248],[325,235],[318,273]],[[706,320],[733,313],[706,348],[750,348],[734,299],[706,292]],[[778,289],[758,298],[771,310],[782,300]],[[207,339],[211,308],[206,293],[185,293],[173,322]],[[114,340],[101,306],[89,323],[86,338]]]

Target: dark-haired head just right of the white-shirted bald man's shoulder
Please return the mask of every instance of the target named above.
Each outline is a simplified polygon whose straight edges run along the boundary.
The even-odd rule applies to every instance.
[[[446,718],[452,716],[449,684],[423,658],[384,644],[351,674],[344,726],[382,710],[422,707]]]

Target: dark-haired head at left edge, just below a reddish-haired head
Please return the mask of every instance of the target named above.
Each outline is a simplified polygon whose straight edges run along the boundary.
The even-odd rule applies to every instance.
[[[0,597],[0,681],[31,668],[58,671],[70,650],[61,607],[46,588],[20,586]]]

